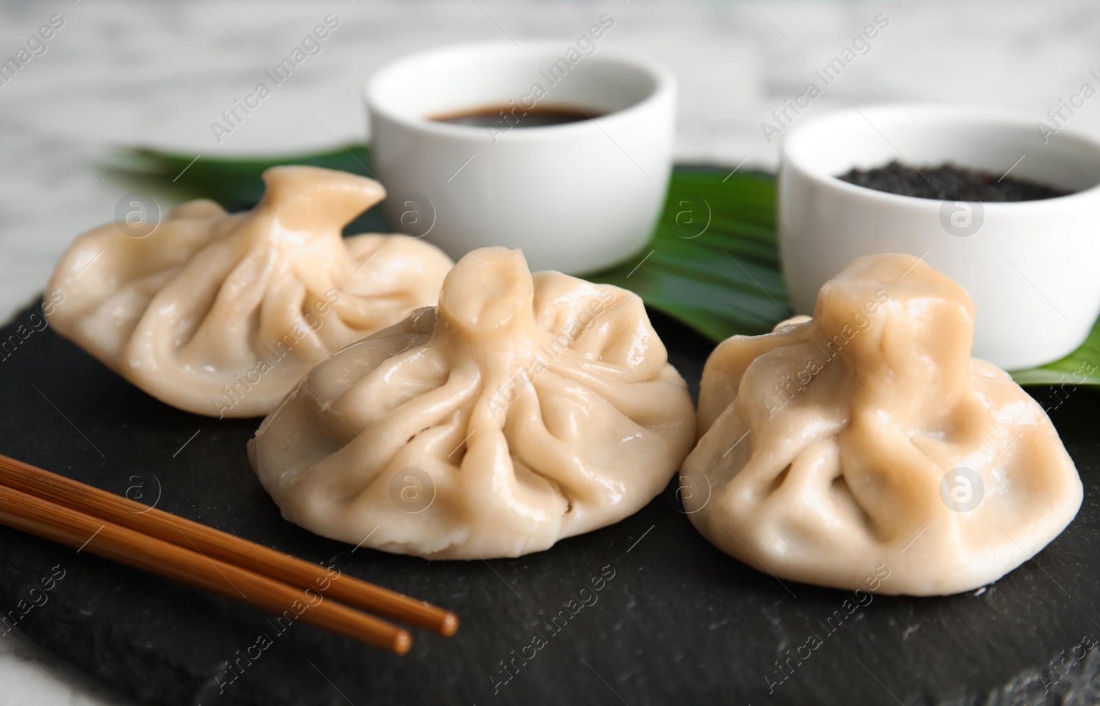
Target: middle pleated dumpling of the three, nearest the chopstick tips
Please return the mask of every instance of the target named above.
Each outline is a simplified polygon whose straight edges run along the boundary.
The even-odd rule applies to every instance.
[[[260,427],[283,517],[429,559],[518,556],[649,503],[695,439],[641,300],[518,250],[468,254],[439,306],[315,367]]]

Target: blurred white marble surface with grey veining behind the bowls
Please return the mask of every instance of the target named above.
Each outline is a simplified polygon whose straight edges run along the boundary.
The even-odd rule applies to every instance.
[[[609,13],[602,45],[648,53],[679,77],[678,157],[747,156],[746,167],[774,168],[760,123],[880,13],[890,24],[871,51],[802,118],[934,100],[1009,106],[1038,121],[1084,81],[1100,88],[1088,76],[1100,73],[1094,0],[11,0],[0,3],[0,58],[55,13],[65,25],[46,53],[0,86],[0,320],[37,296],[74,235],[112,219],[129,189],[97,166],[111,145],[226,155],[361,140],[363,79],[442,43],[560,38],[564,49]],[[341,23],[321,54],[218,144],[210,123],[329,13]],[[1100,97],[1071,124],[1100,133]],[[23,637],[0,640],[0,706],[73,703],[125,702]]]

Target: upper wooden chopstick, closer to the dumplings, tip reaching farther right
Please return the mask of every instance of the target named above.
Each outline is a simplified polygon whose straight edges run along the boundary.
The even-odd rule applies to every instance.
[[[444,608],[345,574],[333,578],[330,571],[317,564],[2,454],[0,484],[298,588],[323,591],[327,597],[394,620],[444,636],[459,629],[458,616]]]

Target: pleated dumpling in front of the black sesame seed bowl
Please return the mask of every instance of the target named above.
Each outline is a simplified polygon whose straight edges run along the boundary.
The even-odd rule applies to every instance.
[[[889,572],[882,593],[946,595],[1022,564],[1081,482],[1040,405],[970,357],[974,323],[947,276],[875,255],[822,287],[812,320],[722,343],[681,475],[692,522],[760,571],[837,588]]]

